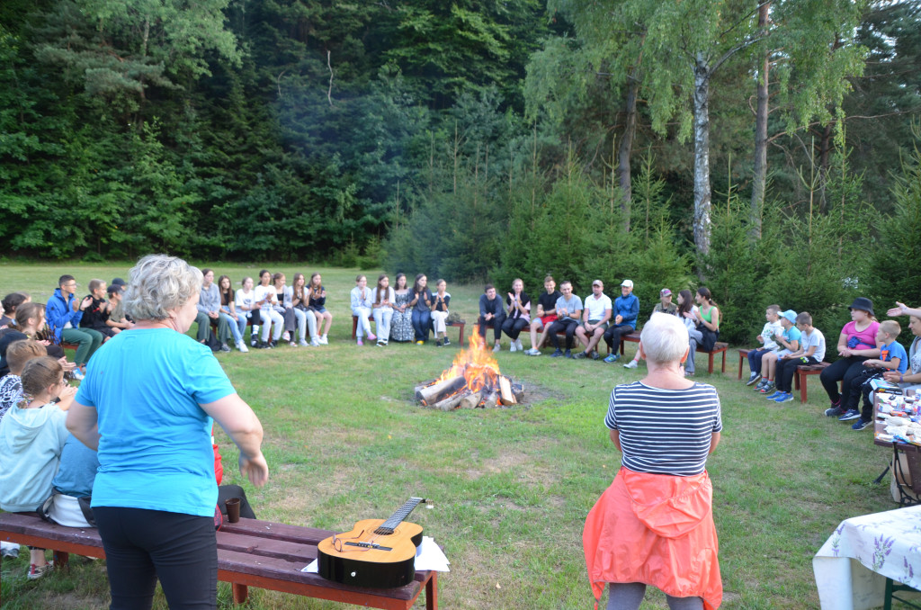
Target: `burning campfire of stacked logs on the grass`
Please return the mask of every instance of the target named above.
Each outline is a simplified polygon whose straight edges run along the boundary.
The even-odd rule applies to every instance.
[[[476,333],[441,377],[415,388],[421,405],[442,411],[515,405],[523,397],[524,387],[499,372],[492,350]]]

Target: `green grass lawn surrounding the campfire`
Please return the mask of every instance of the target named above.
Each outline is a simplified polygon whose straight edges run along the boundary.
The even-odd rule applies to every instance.
[[[93,277],[127,279],[129,266],[0,264],[0,292],[26,290],[43,302],[57,277],[71,273],[81,295]],[[235,287],[259,271],[213,266]],[[297,271],[314,271],[266,266],[282,270],[289,282]],[[451,572],[439,577],[441,607],[592,607],[582,525],[620,463],[602,419],[612,387],[642,377],[645,366],[625,370],[620,363],[503,351],[500,367],[524,383],[529,404],[449,413],[420,408],[414,385],[449,366],[456,336],[440,349],[359,348],[349,338],[348,291],[356,270],[320,271],[334,316],[329,346],[217,356],[262,420],[270,468],[262,489],[242,481],[233,467],[235,448],[220,432],[225,482],[247,487],[262,519],[341,531],[360,519],[390,516],[411,495],[424,497],[431,504],[417,508],[410,521],[444,545],[451,561]],[[377,274],[367,276],[373,286]],[[467,320],[468,332],[481,288],[448,287],[451,309]],[[759,330],[752,329],[752,337]],[[827,337],[839,330],[822,329]],[[628,345],[628,358],[634,348]],[[809,404],[797,397],[776,405],[737,381],[734,350],[729,358],[726,375],[717,368],[708,376],[705,358],[697,362],[697,380],[719,391],[725,427],[708,462],[722,607],[818,608],[811,558],[825,539],[847,517],[896,508],[888,477],[872,483],[890,453],[872,444],[869,430],[854,432],[822,415],[827,399],[817,377],[810,377]],[[103,562],[76,560],[69,574],[29,582],[27,557],[20,552],[3,562],[5,608],[108,607]],[[222,583],[219,605],[231,607],[230,599]],[[256,589],[251,600],[257,609],[347,607]],[[166,607],[162,595],[155,607]],[[664,596],[650,589],[643,607],[666,607]]]

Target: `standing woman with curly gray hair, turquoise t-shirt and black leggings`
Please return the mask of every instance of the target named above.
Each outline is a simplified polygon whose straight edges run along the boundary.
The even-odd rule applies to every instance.
[[[240,472],[256,486],[268,479],[259,419],[185,334],[201,286],[179,258],[142,258],[124,296],[136,325],[99,349],[67,416],[99,455],[92,507],[112,607],[149,608],[157,579],[170,608],[215,607],[212,418],[239,447]]]

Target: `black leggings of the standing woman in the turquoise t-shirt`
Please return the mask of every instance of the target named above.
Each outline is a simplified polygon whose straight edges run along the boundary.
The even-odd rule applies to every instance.
[[[93,507],[106,551],[111,610],[149,610],[157,579],[169,610],[214,610],[214,517],[164,510]]]

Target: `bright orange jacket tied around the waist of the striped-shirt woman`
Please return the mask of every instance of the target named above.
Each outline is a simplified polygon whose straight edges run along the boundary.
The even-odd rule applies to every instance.
[[[621,468],[589,511],[582,532],[596,604],[608,582],[643,582],[672,597],[723,601],[706,472],[650,475]]]

